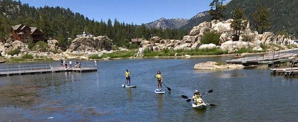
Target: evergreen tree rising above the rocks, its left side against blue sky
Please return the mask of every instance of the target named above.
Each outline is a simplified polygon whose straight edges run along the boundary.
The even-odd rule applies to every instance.
[[[224,18],[225,5],[223,2],[224,0],[213,0],[210,3],[209,14],[212,16],[212,20],[220,20],[221,18]]]

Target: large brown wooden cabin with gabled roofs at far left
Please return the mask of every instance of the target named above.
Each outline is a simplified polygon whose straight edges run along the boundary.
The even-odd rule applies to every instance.
[[[29,27],[23,24],[11,26],[10,33],[12,40],[19,40],[25,43],[30,39],[32,39],[33,42],[46,40],[42,30],[37,27]]]

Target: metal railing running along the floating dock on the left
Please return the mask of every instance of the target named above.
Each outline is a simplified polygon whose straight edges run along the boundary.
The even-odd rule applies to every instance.
[[[64,66],[62,63],[51,64],[32,64],[32,65],[11,65],[0,66],[0,72],[15,72],[15,71],[32,71],[32,70],[48,70],[48,69],[82,69],[82,68],[96,68],[94,62],[81,62],[80,66],[73,64],[72,67]]]

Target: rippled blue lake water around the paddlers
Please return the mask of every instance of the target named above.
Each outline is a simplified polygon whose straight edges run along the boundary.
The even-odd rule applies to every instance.
[[[0,77],[2,121],[297,121],[298,79],[270,76],[267,67],[193,70],[230,57],[98,61],[98,72]],[[7,65],[7,64],[1,64]],[[125,69],[132,85],[123,88]],[[172,89],[155,94],[157,70]],[[181,95],[195,90],[209,104],[194,110]],[[48,119],[53,117],[53,119]]]

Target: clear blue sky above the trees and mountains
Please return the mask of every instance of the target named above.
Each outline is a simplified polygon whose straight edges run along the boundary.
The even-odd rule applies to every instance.
[[[191,18],[210,9],[212,0],[21,0],[35,7],[62,6],[100,21],[109,18],[126,23],[148,23],[165,18]]]

